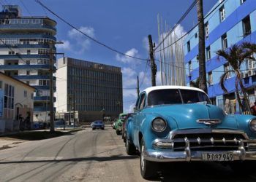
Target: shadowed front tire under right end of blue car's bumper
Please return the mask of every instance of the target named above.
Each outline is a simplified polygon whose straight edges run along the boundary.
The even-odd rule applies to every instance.
[[[235,161],[230,162],[230,167],[235,173],[244,173],[245,175],[255,174],[255,168],[252,166],[256,165],[255,161]]]

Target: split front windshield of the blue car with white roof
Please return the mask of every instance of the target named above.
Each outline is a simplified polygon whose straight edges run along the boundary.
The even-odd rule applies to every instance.
[[[148,106],[178,103],[210,103],[204,92],[197,90],[165,89],[154,90],[148,94]],[[182,97],[182,98],[181,98]]]

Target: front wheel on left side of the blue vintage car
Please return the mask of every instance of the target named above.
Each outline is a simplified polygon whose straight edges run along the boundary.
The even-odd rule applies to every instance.
[[[145,159],[144,153],[146,151],[145,143],[143,138],[140,142],[140,174],[144,179],[154,178],[157,175],[155,167],[156,162],[151,162]]]

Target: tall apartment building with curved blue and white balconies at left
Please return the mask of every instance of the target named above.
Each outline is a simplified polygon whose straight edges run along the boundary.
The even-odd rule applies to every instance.
[[[49,52],[50,44],[56,42],[56,22],[48,17],[23,17],[18,6],[4,5],[0,30],[0,71],[37,89],[34,122],[48,122]],[[56,52],[54,44],[52,52]]]

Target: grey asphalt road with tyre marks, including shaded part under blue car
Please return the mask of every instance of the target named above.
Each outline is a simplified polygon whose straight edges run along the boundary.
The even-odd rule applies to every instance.
[[[121,136],[107,127],[1,150],[0,181],[144,180],[138,156],[127,156]],[[175,163],[162,165],[152,181],[256,181],[256,175],[233,173],[212,163]]]

